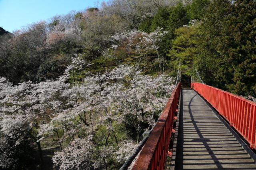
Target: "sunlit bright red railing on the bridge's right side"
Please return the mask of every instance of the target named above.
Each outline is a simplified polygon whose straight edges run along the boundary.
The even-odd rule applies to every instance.
[[[233,126],[256,149],[256,103],[235,94],[201,84],[191,83],[203,98],[205,98],[220,115]]]

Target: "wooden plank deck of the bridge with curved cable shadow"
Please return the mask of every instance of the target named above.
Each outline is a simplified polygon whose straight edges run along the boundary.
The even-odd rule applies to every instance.
[[[172,169],[256,170],[254,160],[194,90],[182,90],[180,103]]]

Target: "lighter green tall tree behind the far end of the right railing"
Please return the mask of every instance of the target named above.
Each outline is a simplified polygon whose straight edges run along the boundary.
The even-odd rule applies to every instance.
[[[204,83],[224,88],[225,80],[230,79],[227,61],[221,57],[217,49],[222,39],[227,35],[224,28],[224,18],[230,14],[230,2],[213,1],[209,6],[205,20],[200,26],[197,51],[199,55],[194,59],[194,68],[198,68]]]

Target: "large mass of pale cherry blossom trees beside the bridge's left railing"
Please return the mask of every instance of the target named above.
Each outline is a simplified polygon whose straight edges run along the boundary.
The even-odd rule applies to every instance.
[[[174,79],[144,75],[130,65],[92,74],[85,70],[89,65],[75,55],[57,80],[14,86],[1,77],[0,140],[7,137],[18,146],[31,138],[42,157],[40,142],[52,137],[60,146],[52,160],[62,170],[124,162],[156,123]],[[8,147],[0,145],[6,161],[12,156]]]

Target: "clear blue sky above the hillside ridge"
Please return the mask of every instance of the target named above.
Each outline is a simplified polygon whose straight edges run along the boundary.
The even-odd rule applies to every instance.
[[[99,5],[103,0],[99,0]],[[12,32],[71,10],[94,7],[97,0],[0,0],[0,27]]]

